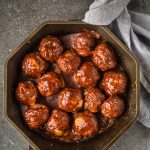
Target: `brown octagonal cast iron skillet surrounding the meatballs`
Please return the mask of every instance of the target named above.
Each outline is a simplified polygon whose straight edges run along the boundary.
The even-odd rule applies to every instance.
[[[79,33],[87,30],[95,30],[108,41],[120,57],[121,64],[130,79],[130,87],[126,98],[126,112],[117,119],[113,126],[100,135],[97,135],[81,143],[64,143],[53,139],[43,138],[41,135],[28,129],[21,114],[19,104],[15,98],[14,88],[17,86],[21,73],[21,62],[27,53],[33,51],[42,37],[47,34],[58,35],[67,33]],[[108,149],[121,134],[133,124],[139,113],[139,64],[135,56],[126,48],[105,26],[93,26],[81,21],[48,21],[37,28],[15,51],[13,51],[5,63],[4,75],[4,100],[5,117],[14,125],[33,149],[42,150],[103,150]]]

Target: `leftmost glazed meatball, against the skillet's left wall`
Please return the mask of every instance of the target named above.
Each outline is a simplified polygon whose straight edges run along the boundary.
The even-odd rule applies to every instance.
[[[24,105],[31,106],[35,103],[38,90],[32,81],[20,82],[16,89],[16,97]]]

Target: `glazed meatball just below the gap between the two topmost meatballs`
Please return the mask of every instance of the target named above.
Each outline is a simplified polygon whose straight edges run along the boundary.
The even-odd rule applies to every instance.
[[[58,67],[65,73],[77,71],[80,63],[80,57],[73,50],[66,51],[57,59]]]

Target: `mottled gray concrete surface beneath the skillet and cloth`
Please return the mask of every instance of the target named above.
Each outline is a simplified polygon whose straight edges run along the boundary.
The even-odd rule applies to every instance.
[[[92,1],[0,0],[0,150],[28,150],[28,143],[3,117],[3,64],[6,56],[45,20],[81,20]],[[129,8],[150,13],[150,1],[132,0]],[[150,150],[150,129],[136,123],[110,149]]]

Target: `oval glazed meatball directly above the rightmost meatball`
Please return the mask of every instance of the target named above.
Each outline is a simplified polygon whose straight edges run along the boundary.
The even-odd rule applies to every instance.
[[[102,71],[107,71],[117,66],[115,53],[107,43],[101,43],[95,48],[93,52],[93,62]]]

